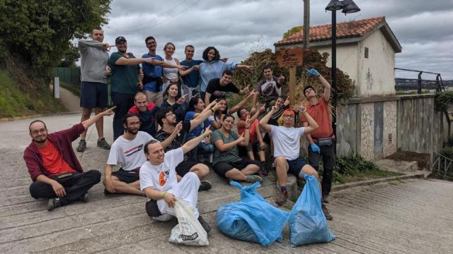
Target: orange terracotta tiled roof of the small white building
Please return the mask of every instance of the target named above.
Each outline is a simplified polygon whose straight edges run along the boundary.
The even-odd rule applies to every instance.
[[[347,37],[360,37],[365,33],[371,31],[380,23],[385,22],[385,17],[365,18],[362,20],[354,20],[348,22],[337,23],[337,39]],[[317,42],[322,40],[331,40],[332,25],[316,25],[310,27],[310,42]],[[285,39],[275,42],[275,46],[296,44],[304,42],[304,35],[302,31],[289,35]]]

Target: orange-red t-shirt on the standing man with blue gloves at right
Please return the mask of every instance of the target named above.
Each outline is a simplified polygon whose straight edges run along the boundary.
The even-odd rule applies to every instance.
[[[333,135],[331,114],[328,111],[328,104],[324,97],[318,100],[314,105],[308,105],[306,112],[318,123],[319,128],[311,133],[313,138],[330,138]],[[302,116],[301,122],[306,121]]]

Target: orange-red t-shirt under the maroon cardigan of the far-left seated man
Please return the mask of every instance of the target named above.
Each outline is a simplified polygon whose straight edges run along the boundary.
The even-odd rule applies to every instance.
[[[42,164],[51,175],[75,172],[60,155],[57,147],[49,140],[47,140],[45,147],[38,148],[38,151],[42,157]]]

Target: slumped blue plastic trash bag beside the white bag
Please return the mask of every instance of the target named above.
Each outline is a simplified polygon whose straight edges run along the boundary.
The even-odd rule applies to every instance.
[[[270,205],[255,190],[260,183],[243,187],[231,181],[230,184],[241,190],[241,201],[219,207],[216,214],[217,227],[226,236],[262,246],[270,246],[282,241],[281,235],[289,212]]]

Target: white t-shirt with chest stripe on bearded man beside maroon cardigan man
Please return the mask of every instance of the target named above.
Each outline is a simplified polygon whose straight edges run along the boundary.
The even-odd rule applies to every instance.
[[[118,137],[110,147],[107,164],[120,165],[125,171],[142,167],[147,162],[143,149],[149,140],[155,139],[144,131],[139,131],[133,140]]]

